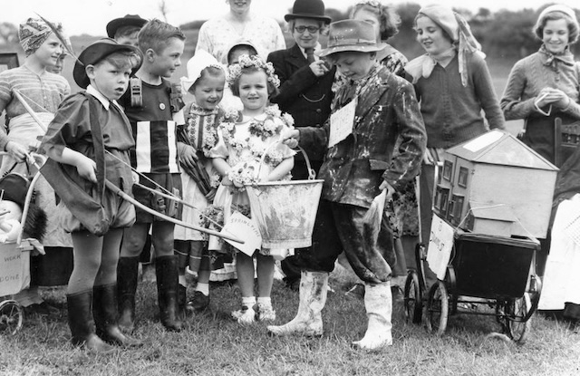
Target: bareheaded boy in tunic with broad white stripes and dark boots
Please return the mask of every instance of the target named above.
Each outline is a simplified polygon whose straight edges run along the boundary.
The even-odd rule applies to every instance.
[[[185,35],[178,27],[157,19],[145,24],[139,34],[143,64],[135,73],[138,80],[131,79],[131,89],[120,101],[135,139],[131,166],[140,173],[140,185],[133,186],[133,196],[141,204],[174,218],[180,217],[177,202],[151,190],[181,196],[177,130],[185,122],[184,103],[180,87],[166,79],[181,65],[184,45]],[[173,253],[175,225],[140,208],[136,214],[137,221],[125,229],[121,244],[117,273],[119,323],[128,331],[133,328],[140,254],[151,229],[160,320],[169,331],[180,331],[178,256]]]

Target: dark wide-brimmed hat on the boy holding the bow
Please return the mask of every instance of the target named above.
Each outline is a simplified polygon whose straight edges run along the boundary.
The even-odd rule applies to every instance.
[[[109,56],[111,53],[117,53],[121,51],[136,53],[140,56],[140,52],[137,47],[134,47],[130,44],[119,44],[117,41],[111,38],[102,38],[92,44],[89,44],[89,46],[85,48],[79,55],[76,63],[74,63],[74,82],[82,87],[82,89],[86,89],[91,81],[87,76],[85,67],[99,63],[102,61],[102,59]],[[141,58],[139,65],[142,63],[142,61],[143,59]],[[139,66],[133,67],[132,71],[135,72],[137,69],[139,69]]]

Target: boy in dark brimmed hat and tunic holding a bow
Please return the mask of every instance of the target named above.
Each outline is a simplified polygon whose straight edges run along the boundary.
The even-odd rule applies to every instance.
[[[135,221],[135,210],[104,190],[106,178],[131,194],[129,151],[134,140],[117,100],[137,62],[134,47],[111,39],[82,51],[73,78],[86,92],[63,101],[41,145],[49,157],[41,172],[61,198],[59,225],[73,237],[74,268],[66,294],[73,343],[92,352],[110,352],[109,343],[140,345],[121,333],[116,305],[122,228]]]

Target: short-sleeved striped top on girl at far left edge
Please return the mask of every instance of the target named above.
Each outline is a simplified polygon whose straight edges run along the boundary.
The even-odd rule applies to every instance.
[[[69,83],[58,74],[43,72],[38,75],[25,65],[0,72],[0,113],[6,111],[8,118],[27,113],[14,97],[13,89],[23,95],[34,112],[56,112],[64,97],[71,93]],[[5,149],[7,142],[6,131],[0,127],[0,150]]]

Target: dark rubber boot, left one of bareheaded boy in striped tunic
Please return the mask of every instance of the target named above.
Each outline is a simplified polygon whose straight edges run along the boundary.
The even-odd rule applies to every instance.
[[[120,257],[117,264],[117,302],[119,328],[131,333],[135,327],[135,294],[139,275],[139,256]]]

